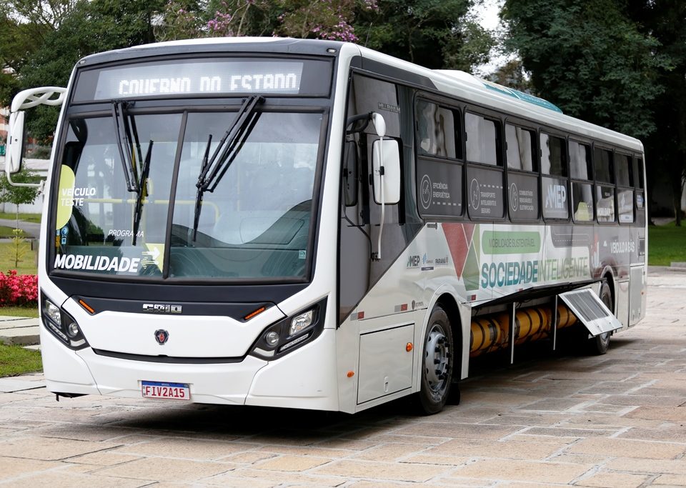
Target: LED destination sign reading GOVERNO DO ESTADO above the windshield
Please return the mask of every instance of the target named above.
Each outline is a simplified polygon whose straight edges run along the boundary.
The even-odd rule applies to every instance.
[[[326,95],[330,64],[311,59],[193,59],[84,71],[75,101],[221,94]]]

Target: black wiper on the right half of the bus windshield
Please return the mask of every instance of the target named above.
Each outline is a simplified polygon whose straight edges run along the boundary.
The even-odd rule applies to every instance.
[[[255,109],[258,104],[262,103],[264,103],[264,97],[259,95],[252,95],[245,99],[232,125],[224,132],[224,136],[222,136],[222,139],[219,141],[217,149],[214,149],[214,153],[212,153],[212,157],[209,159],[208,156],[210,146],[212,145],[212,134],[210,134],[207,139],[205,154],[200,166],[200,174],[198,176],[198,181],[195,184],[198,191],[195,197],[195,214],[193,217],[194,241],[198,234],[203,194],[205,191],[212,193],[212,191],[217,188],[219,181],[222,181],[222,177],[224,177],[229,166],[231,166],[234,159],[236,159],[245,140],[257,123],[259,114],[257,114]]]

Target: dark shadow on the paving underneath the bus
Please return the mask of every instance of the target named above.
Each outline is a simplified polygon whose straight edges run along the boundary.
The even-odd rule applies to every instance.
[[[560,369],[587,370],[614,362],[613,350],[632,347],[636,339],[613,337],[610,351],[604,356],[589,356],[565,337],[556,351],[552,342],[540,341],[515,347],[515,362],[509,362],[509,350],[474,357],[469,364],[469,379],[460,389],[469,394],[475,389],[487,391],[488,384],[505,378],[516,379],[527,374],[545,375]],[[590,358],[595,360],[590,361]],[[358,414],[321,412],[304,409],[245,407],[213,404],[184,404],[160,408],[136,404],[106,424],[166,433],[176,437],[269,442],[307,446],[327,443],[341,447],[354,439],[364,439],[394,424],[421,421],[422,414],[412,397],[372,407]],[[459,404],[459,389],[449,399],[447,409]],[[469,399],[465,399],[469,407]],[[459,407],[457,407],[459,408]]]

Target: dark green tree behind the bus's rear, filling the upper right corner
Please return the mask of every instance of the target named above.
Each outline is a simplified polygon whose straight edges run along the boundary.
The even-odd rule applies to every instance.
[[[645,141],[649,189],[668,175],[677,217],[686,176],[686,4],[506,0],[510,49],[565,113]]]

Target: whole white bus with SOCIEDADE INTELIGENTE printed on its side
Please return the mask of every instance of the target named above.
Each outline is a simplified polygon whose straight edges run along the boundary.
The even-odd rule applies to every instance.
[[[8,174],[42,102],[61,397],[433,413],[470,357],[645,314],[642,144],[545,100],[334,41],[151,44],[19,94]]]

